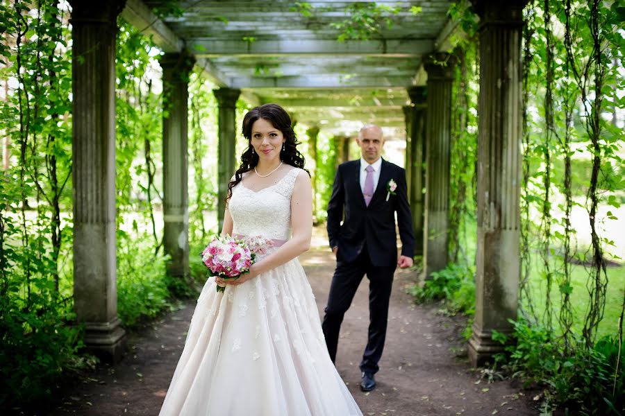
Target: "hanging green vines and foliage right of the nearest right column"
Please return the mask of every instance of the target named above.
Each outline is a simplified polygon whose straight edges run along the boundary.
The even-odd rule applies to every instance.
[[[617,220],[610,208],[619,209],[623,189],[623,120],[602,116],[616,114],[620,105],[622,34],[611,28],[622,14],[601,1],[553,0],[533,1],[524,13],[524,319],[515,323],[510,366],[558,386],[546,389],[544,410],[558,405],[603,414],[622,410],[625,401],[615,388],[624,379],[618,311],[625,304],[622,284],[613,283],[624,272],[610,263],[619,260],[618,251],[605,249],[613,244],[608,235]],[[587,240],[580,235],[583,223],[574,224],[582,210]],[[539,334],[551,347],[531,347]],[[590,363],[587,378],[574,370],[558,372],[549,360],[566,368]],[[612,374],[609,386],[606,374]]]

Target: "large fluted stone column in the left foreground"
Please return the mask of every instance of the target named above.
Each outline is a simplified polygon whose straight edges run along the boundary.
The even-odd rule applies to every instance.
[[[124,1],[72,4],[74,309],[85,345],[122,358],[115,252],[115,34]]]

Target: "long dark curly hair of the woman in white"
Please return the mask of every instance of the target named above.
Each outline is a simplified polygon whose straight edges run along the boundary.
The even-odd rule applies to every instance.
[[[226,203],[232,196],[232,189],[243,179],[243,174],[251,171],[258,164],[258,154],[253,151],[251,146],[251,128],[252,125],[258,120],[264,119],[272,123],[274,128],[277,128],[282,132],[285,138],[283,150],[280,150],[280,159],[285,164],[289,164],[296,168],[302,168],[304,166],[304,158],[299,150],[297,150],[297,137],[291,126],[291,118],[285,110],[277,104],[269,103],[259,105],[249,110],[243,117],[243,137],[247,139],[247,149],[241,155],[241,164],[235,172],[235,177],[228,183],[228,195],[226,196]],[[306,169],[304,169],[308,172]],[[308,172],[310,175],[310,172]]]

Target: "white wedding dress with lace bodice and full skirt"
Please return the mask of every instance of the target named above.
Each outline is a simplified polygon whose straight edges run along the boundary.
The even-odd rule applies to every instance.
[[[293,168],[258,192],[234,187],[233,234],[287,240],[300,171]],[[277,248],[263,255],[271,250]],[[362,415],[330,360],[297,259],[224,293],[208,279],[160,415]]]

